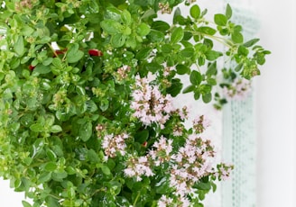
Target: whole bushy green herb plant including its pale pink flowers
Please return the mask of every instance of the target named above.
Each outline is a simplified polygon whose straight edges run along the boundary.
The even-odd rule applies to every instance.
[[[221,108],[270,52],[192,2],[1,1],[0,175],[24,207],[204,206],[229,176],[207,114],[185,126],[173,100]]]

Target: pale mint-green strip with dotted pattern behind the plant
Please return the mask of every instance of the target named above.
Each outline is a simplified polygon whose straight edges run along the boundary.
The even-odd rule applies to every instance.
[[[229,2],[229,1],[228,1]],[[244,28],[245,41],[254,37],[258,21],[254,13],[234,6],[233,22]],[[223,109],[222,157],[235,169],[222,184],[222,207],[254,207],[255,193],[255,120],[254,93],[242,101],[230,101]]]

